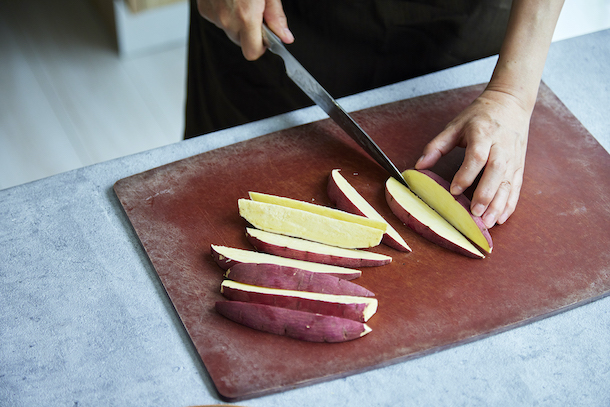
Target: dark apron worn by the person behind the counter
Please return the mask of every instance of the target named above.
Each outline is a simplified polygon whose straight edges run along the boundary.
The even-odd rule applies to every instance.
[[[246,61],[191,0],[185,138],[311,105],[270,52]],[[497,54],[511,0],[285,0],[290,52],[334,97]],[[491,72],[490,72],[491,74]]]

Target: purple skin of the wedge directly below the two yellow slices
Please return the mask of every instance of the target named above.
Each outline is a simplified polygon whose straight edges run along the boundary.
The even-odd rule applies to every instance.
[[[246,238],[250,244],[259,252],[273,254],[275,256],[287,257],[295,260],[309,261],[312,263],[324,263],[331,264],[333,266],[357,268],[357,267],[375,267],[383,266],[390,263],[390,259],[387,261],[371,260],[371,259],[358,259],[348,258],[341,256],[332,256],[320,253],[312,253],[303,250],[296,250],[290,247],[282,247],[274,244],[264,242],[248,233]]]

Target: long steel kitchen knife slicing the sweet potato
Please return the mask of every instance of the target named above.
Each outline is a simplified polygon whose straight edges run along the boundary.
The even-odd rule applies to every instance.
[[[277,35],[263,24],[263,41],[269,51],[284,60],[288,77],[297,84],[307,96],[322,108],[360,147],[379,163],[390,175],[407,186],[407,182],[388,156],[379,148],[373,139],[347,114],[335,99],[315,80],[313,76],[296,60]]]

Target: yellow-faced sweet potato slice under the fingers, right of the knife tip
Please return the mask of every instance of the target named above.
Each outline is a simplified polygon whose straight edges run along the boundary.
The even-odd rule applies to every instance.
[[[457,202],[453,195],[427,174],[417,170],[402,173],[409,188],[438,212],[464,236],[483,251],[491,253],[489,242],[479,229],[469,211]]]

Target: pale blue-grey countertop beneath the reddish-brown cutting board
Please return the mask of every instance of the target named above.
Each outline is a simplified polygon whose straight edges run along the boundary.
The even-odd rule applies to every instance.
[[[357,110],[483,83],[494,63],[488,58],[342,104]],[[543,76],[607,151],[609,68],[610,31],[601,31],[554,43]],[[112,186],[324,117],[307,108],[0,191],[0,405],[221,403]],[[608,406],[609,383],[607,297],[426,357],[236,404]]]

